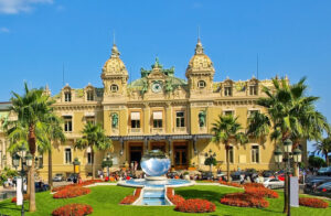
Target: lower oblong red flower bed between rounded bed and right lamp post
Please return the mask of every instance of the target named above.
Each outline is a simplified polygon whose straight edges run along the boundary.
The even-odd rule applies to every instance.
[[[257,196],[252,196],[246,193],[227,194],[221,198],[221,203],[238,207],[268,207],[269,202]]]

